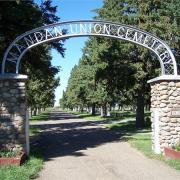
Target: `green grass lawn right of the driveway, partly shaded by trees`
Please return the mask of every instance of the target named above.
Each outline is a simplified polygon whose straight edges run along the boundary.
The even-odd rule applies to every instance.
[[[162,154],[158,155],[152,151],[152,141],[151,141],[151,126],[150,126],[150,112],[145,112],[145,127],[143,129],[135,128],[135,116],[134,112],[123,111],[123,112],[112,112],[111,117],[100,117],[100,115],[92,116],[89,113],[80,113],[80,112],[70,112],[76,115],[79,115],[81,118],[90,119],[90,120],[107,120],[105,125],[106,128],[111,130],[121,131],[124,138],[131,144],[132,147],[144,153],[147,157],[152,159],[158,159],[168,164],[169,166],[180,170],[180,160],[166,159]],[[121,117],[115,117],[115,113],[121,114]],[[121,122],[121,120],[133,120],[128,122]],[[113,123],[113,121],[119,120],[118,123]]]

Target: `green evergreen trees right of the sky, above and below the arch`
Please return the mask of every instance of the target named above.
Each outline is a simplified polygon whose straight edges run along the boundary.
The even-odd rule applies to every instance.
[[[160,37],[179,61],[179,6],[178,0],[105,0],[94,11],[95,19],[132,25]],[[109,38],[89,38],[79,64],[72,70],[64,92],[66,100],[62,101],[68,102],[67,107],[96,104],[105,114],[114,104],[129,105],[136,109],[136,126],[143,127],[144,107],[150,106],[147,80],[159,73],[157,57],[144,47]]]

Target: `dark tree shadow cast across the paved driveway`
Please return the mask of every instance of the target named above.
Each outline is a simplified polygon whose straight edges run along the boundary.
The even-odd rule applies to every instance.
[[[118,127],[102,128],[102,125],[111,122],[107,120],[76,121],[79,117],[64,112],[53,112],[51,119],[54,119],[53,123],[31,124],[32,128],[41,130],[41,133],[31,137],[31,144],[42,149],[46,161],[54,157],[85,156],[81,150],[109,142],[126,141],[127,137],[124,138],[124,136],[137,132],[134,122],[119,123]],[[73,121],[68,119],[73,119]],[[146,130],[148,131],[150,130]]]

